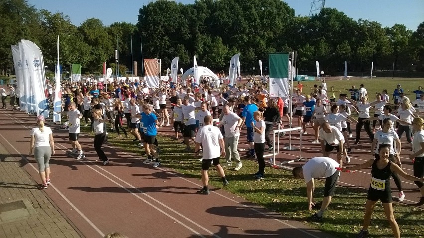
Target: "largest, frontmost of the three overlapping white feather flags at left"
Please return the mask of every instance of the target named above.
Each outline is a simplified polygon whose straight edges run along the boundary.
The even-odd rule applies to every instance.
[[[23,51],[29,67],[29,78],[31,80],[31,97],[27,98],[30,105],[34,105],[37,116],[49,117],[49,103],[46,97],[46,75],[44,72],[43,54],[34,42],[21,40]]]

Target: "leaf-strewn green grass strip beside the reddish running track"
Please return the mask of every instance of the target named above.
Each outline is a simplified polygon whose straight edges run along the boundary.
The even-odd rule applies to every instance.
[[[88,132],[88,127],[81,127]],[[115,133],[109,133],[109,144],[127,151],[141,154],[140,148],[131,145],[131,139],[115,138]],[[193,153],[184,152],[185,145],[171,137],[157,136],[162,149],[160,159],[163,167],[174,169],[184,175],[201,179],[200,162]],[[224,163],[224,160],[221,159]],[[266,167],[265,179],[256,181],[251,174],[258,170],[257,162],[243,160],[243,168],[239,171],[225,169],[225,175],[230,182],[223,189],[244,198],[259,206],[280,213],[286,220],[303,222],[313,228],[329,233],[339,238],[353,238],[362,228],[366,194],[345,188],[337,187],[336,194],[325,212],[322,223],[308,223],[306,218],[313,215],[307,211],[306,184],[303,180],[295,180],[290,171]],[[222,182],[216,170],[211,167],[210,185],[222,188]],[[323,196],[323,182],[316,182],[316,201],[321,202]],[[401,229],[402,237],[423,237],[424,222],[423,210],[414,206],[407,206],[394,202],[395,218]],[[391,230],[383,207],[378,204],[372,216],[371,237],[391,237]],[[421,235],[419,235],[421,234]]]

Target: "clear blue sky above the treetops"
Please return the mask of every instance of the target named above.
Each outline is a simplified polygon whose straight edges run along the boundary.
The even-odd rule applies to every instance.
[[[116,21],[136,23],[139,8],[150,0],[28,0],[36,8],[63,12],[75,25],[95,17],[110,25]],[[178,0],[194,3],[195,0]],[[309,15],[312,0],[285,0],[296,15]],[[383,27],[404,24],[415,31],[424,21],[424,0],[326,0],[325,6],[343,11],[354,20],[378,21]]]

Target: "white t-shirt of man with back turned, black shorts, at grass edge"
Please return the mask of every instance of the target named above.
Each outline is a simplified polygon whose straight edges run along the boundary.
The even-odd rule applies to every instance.
[[[203,147],[203,159],[214,159],[219,158],[221,150],[219,147],[219,140],[223,136],[218,127],[213,125],[205,125],[197,132],[195,141],[202,143]]]

